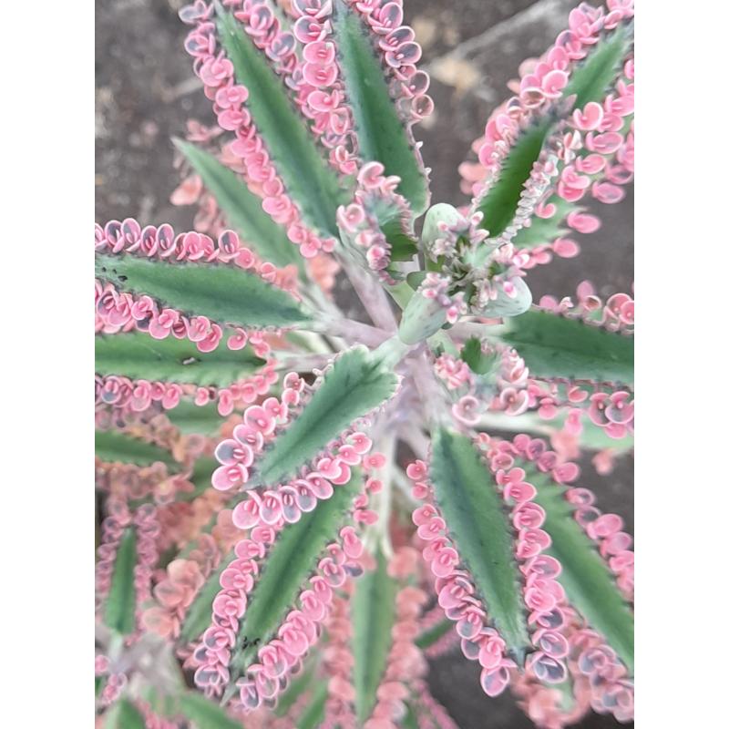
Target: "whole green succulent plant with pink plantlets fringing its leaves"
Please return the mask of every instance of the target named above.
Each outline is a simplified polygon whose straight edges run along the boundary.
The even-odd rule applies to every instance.
[[[632,179],[631,0],[525,62],[460,210],[400,0],[180,17],[217,116],[176,141],[199,230],[96,228],[105,725],[454,726],[453,646],[539,726],[630,720],[631,537],[573,461],[631,448],[633,301],[534,305],[527,274]]]

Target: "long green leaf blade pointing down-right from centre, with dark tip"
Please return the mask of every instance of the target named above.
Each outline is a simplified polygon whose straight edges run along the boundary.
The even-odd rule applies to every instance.
[[[467,436],[441,426],[432,448],[430,480],[438,507],[488,617],[523,666],[529,631],[512,528],[494,477]]]

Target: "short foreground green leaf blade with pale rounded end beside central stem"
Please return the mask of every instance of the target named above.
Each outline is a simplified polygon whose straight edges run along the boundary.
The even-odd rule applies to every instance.
[[[252,485],[291,477],[354,421],[395,394],[397,377],[375,354],[355,346],[334,360],[302,413],[266,451]]]

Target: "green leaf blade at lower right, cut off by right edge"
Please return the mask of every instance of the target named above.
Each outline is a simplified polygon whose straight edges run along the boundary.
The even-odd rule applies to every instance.
[[[545,529],[552,539],[547,553],[560,560],[560,584],[570,603],[601,632],[633,672],[633,617],[594,542],[574,519],[574,507],[564,498],[566,488],[529,468],[527,480],[537,488],[535,503],[547,512]]]

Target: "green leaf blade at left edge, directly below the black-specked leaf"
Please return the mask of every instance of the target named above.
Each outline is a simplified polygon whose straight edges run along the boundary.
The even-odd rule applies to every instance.
[[[212,352],[200,352],[188,339],[154,339],[144,332],[96,338],[98,375],[224,387],[254,374],[262,364],[264,360],[250,347],[231,350],[220,346]]]

